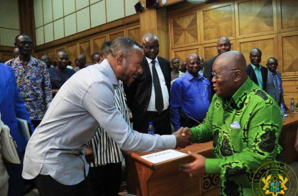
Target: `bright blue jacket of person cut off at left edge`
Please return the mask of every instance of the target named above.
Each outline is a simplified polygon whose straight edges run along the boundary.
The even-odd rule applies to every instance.
[[[23,151],[27,142],[21,134],[16,118],[27,120],[32,131],[34,131],[34,126],[21,100],[12,68],[2,63],[0,63],[0,112],[1,120],[10,128],[10,135],[16,141],[18,151]]]

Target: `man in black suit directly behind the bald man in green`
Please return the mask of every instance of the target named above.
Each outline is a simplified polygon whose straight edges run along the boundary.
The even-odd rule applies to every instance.
[[[212,67],[213,67],[213,62],[215,61],[215,59],[222,53],[224,52],[228,52],[231,50],[231,43],[229,38],[227,37],[220,37],[217,40],[217,44],[216,44],[216,48],[217,48],[217,52],[218,55],[214,56],[213,58],[207,60],[204,63],[204,72],[203,72],[203,77],[207,78],[211,84],[211,98],[213,97],[213,95],[215,94],[215,91],[213,90],[213,82],[212,82]]]

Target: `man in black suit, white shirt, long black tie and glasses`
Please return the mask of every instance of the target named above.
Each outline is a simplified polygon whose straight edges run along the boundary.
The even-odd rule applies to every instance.
[[[142,47],[143,73],[124,87],[132,112],[133,129],[147,133],[149,122],[152,122],[156,134],[170,134],[170,61],[157,56],[159,42],[156,35],[144,35]]]

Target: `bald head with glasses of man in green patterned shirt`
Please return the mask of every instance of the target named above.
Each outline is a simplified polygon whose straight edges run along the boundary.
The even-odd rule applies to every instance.
[[[221,54],[213,63],[213,87],[216,95],[231,98],[247,79],[246,60],[239,51]]]

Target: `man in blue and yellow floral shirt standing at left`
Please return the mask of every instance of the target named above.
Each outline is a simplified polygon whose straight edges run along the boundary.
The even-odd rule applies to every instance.
[[[33,43],[28,35],[18,35],[15,46],[19,48],[19,57],[10,59],[5,64],[14,70],[21,99],[31,122],[37,127],[52,100],[49,73],[43,61],[31,56]]]

